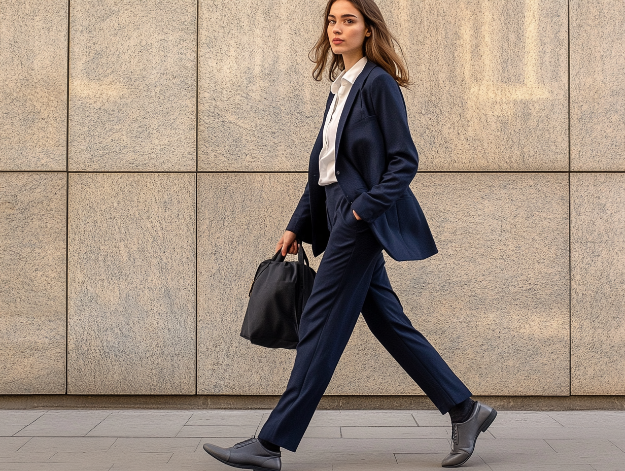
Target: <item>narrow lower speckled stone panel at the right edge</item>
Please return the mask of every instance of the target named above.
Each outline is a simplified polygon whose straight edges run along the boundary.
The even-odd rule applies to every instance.
[[[571,393],[625,394],[625,174],[571,175]]]

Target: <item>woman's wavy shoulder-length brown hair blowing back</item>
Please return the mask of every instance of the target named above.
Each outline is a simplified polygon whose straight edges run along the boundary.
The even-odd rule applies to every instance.
[[[409,86],[411,83],[404,52],[401,46],[399,46],[399,43],[397,43],[397,39],[395,39],[386,26],[382,12],[377,7],[377,4],[374,0],[349,1],[360,11],[362,16],[364,16],[364,23],[369,31],[371,31],[371,36],[364,38],[362,53],[367,56],[369,61],[376,63],[387,71],[391,77],[395,79],[397,84],[402,87]],[[329,25],[329,19],[327,17],[330,14],[330,9],[334,2],[336,2],[336,0],[328,0],[324,29],[317,44],[314,45],[308,54],[311,61],[316,64],[314,71],[312,71],[312,76],[316,81],[321,81],[323,71],[326,67],[328,67],[327,76],[330,81],[334,81],[345,68],[342,56],[332,53],[330,40],[327,37],[327,27]],[[396,53],[394,44],[397,44],[401,57]]]

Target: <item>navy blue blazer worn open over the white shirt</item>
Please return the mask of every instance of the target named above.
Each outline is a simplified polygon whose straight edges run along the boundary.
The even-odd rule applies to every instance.
[[[315,256],[329,238],[326,191],[319,186],[323,123],[308,166],[308,183],[287,230],[312,244]],[[352,210],[364,219],[394,260],[422,260],[437,253],[421,206],[409,185],[419,165],[408,128],[406,103],[396,81],[367,62],[352,85],[336,132],[336,180]]]

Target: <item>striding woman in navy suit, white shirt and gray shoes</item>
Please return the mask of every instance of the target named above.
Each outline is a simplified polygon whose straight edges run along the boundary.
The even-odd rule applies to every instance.
[[[286,391],[258,438],[204,450],[239,468],[277,471],[280,447],[295,451],[332,378],[359,313],[371,332],[452,421],[443,467],[471,457],[497,412],[471,400],[427,340],[412,327],[386,275],[382,250],[422,260],[436,245],[409,184],[418,156],[399,86],[408,73],[373,0],[329,0],[313,49],[314,78],[332,81],[312,149],[308,183],[276,251],[296,254],[298,239],[325,252],[301,317]]]

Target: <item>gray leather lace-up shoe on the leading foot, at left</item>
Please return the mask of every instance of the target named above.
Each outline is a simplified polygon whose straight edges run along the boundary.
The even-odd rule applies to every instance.
[[[257,438],[249,438],[230,448],[204,444],[204,451],[226,465],[254,471],[280,471],[282,453],[272,452],[261,445]]]

